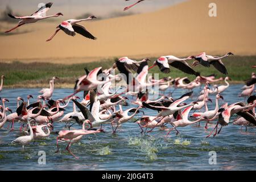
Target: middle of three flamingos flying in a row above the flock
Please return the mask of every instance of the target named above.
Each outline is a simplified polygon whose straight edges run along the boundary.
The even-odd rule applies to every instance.
[[[174,68],[179,69],[181,72],[187,73],[189,75],[199,76],[200,74],[195,72],[191,67],[189,67],[188,63],[185,60],[174,60],[173,57],[170,57],[170,60],[167,58],[168,56],[161,56],[154,62],[154,64],[148,69],[154,68],[158,65],[159,69],[163,73],[170,73],[170,65]]]

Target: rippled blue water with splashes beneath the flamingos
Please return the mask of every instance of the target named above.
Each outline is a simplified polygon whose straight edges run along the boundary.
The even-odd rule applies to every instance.
[[[239,98],[242,85],[231,85],[222,93],[225,102],[232,104],[243,101]],[[27,94],[38,95],[39,89],[3,89],[1,97],[9,98],[7,106],[15,110],[16,97],[26,98]],[[54,99],[63,98],[72,93],[72,89],[55,89]],[[177,90],[174,98],[184,94],[185,90]],[[195,89],[195,98],[199,88]],[[78,94],[82,97],[82,93]],[[214,100],[214,96],[210,96]],[[131,102],[131,97],[129,97]],[[35,101],[35,98],[34,100]],[[189,101],[188,101],[189,102]],[[214,102],[214,101],[213,101]],[[220,105],[224,102],[221,101]],[[214,108],[208,104],[209,109]],[[133,105],[131,105],[133,106]],[[131,107],[130,106],[130,107]],[[135,106],[136,107],[136,106]],[[127,108],[124,108],[127,109]],[[72,103],[67,111],[72,110]],[[156,115],[155,111],[143,109],[145,115]],[[142,113],[135,117],[141,117]],[[236,115],[233,117],[235,118]],[[132,120],[134,121],[134,120]],[[61,152],[56,154],[56,131],[64,129],[63,123],[54,123],[54,131],[49,138],[36,140],[22,150],[18,144],[10,144],[12,140],[23,135],[18,131],[20,123],[15,123],[15,131],[9,133],[0,129],[0,169],[1,170],[255,170],[256,137],[255,128],[250,127],[247,132],[240,130],[241,126],[224,127],[215,138],[205,138],[208,131],[204,127],[187,126],[179,128],[180,134],[175,132],[165,138],[166,131],[155,129],[148,135],[141,135],[136,123],[124,123],[112,134],[111,126],[104,125],[106,133],[85,135],[79,143],[71,146],[72,152],[79,156],[75,159],[61,143]],[[215,122],[214,122],[215,123]],[[204,123],[202,123],[202,126]],[[79,126],[75,126],[79,129]],[[46,152],[46,165],[38,164],[38,152]],[[217,164],[209,164],[209,151],[217,153]]]

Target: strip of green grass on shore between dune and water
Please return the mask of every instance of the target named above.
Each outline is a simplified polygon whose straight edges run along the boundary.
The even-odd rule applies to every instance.
[[[155,57],[150,57],[150,59],[156,60]],[[256,56],[230,56],[222,61],[226,65],[229,72],[228,76],[232,78],[233,83],[243,82],[243,80],[251,77],[251,72],[255,71],[251,66],[256,65]],[[85,74],[85,67],[89,70],[96,67],[102,67],[105,69],[111,67],[113,63],[114,58],[105,61],[94,61],[91,63],[72,65],[36,62],[26,64],[20,63],[19,61],[13,61],[12,63],[0,63],[0,75],[5,75],[5,87],[9,88],[36,88],[48,86],[48,81],[53,76],[60,78],[60,80],[57,81],[57,87],[72,88],[75,84],[76,78]],[[192,61],[188,61],[188,63],[192,64]],[[152,63],[149,62],[149,64],[151,65]],[[215,73],[217,77],[224,76],[213,67],[204,68],[199,65],[195,68],[195,71],[200,72],[203,76],[211,75],[213,73]],[[151,69],[150,73],[160,73],[159,68],[155,67],[154,69]],[[168,76],[187,76],[190,80],[195,78],[195,76],[187,75],[172,67],[170,74],[159,74],[159,78]]]

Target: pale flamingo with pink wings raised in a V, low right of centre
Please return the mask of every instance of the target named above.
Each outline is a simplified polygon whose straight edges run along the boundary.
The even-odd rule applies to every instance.
[[[174,121],[172,122],[172,129],[170,129],[168,131],[168,133],[166,134],[166,137],[170,134],[170,132],[174,129],[176,129],[176,127],[185,127],[185,126],[188,126],[188,125],[193,125],[197,122],[200,122],[201,120],[205,119],[204,117],[201,117],[199,119],[197,119],[196,121],[189,121],[188,120],[188,114],[189,114],[189,111],[191,111],[191,109],[193,108],[193,106],[188,106],[187,108],[185,108],[182,113],[180,113],[179,111],[179,115],[177,116],[177,121]],[[177,130],[176,130],[177,131]],[[177,133],[179,133],[179,131],[177,131]]]

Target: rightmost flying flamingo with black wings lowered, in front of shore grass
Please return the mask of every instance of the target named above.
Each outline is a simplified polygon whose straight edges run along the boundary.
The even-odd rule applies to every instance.
[[[200,53],[200,55],[192,56],[195,58],[196,61],[193,62],[192,68],[195,67],[198,64],[203,65],[204,67],[210,67],[210,64],[213,65],[214,68],[216,68],[219,72],[221,72],[224,75],[228,75],[228,71],[226,70],[225,65],[222,63],[221,59],[225,57],[229,57],[230,55],[233,55],[232,52],[226,53],[224,56],[218,57],[218,56],[210,56],[206,55],[205,52]]]

